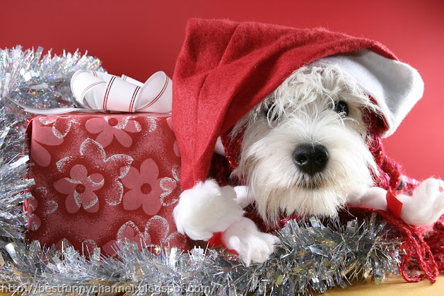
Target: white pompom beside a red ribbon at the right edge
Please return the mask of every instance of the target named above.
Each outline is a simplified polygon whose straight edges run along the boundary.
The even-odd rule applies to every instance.
[[[434,178],[423,181],[413,195],[398,195],[401,218],[410,225],[431,225],[444,214],[444,182]]]

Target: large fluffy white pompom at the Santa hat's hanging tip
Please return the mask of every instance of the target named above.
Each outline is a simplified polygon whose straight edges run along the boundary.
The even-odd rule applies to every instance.
[[[214,232],[223,232],[244,215],[231,186],[219,186],[214,180],[196,184],[180,194],[173,210],[178,231],[194,240],[209,240]]]

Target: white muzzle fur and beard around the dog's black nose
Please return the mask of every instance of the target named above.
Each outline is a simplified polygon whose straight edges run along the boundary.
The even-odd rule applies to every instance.
[[[310,177],[293,162],[293,151],[303,143],[321,144],[329,159],[320,173]],[[373,155],[355,128],[333,112],[316,116],[290,114],[271,128],[265,119],[247,126],[239,166],[234,173],[246,180],[248,194],[268,223],[280,214],[337,216],[352,191],[373,184]]]

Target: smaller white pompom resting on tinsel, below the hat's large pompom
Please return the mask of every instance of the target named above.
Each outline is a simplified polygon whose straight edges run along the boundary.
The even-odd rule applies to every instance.
[[[245,217],[233,223],[222,234],[222,241],[229,249],[242,256],[246,265],[251,261],[262,263],[273,253],[278,237],[260,232],[255,223]]]

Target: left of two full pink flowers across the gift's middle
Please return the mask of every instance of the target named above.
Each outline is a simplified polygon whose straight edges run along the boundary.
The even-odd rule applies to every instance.
[[[67,194],[65,206],[69,213],[76,213],[83,207],[85,211],[99,211],[99,198],[94,191],[103,186],[103,175],[94,173],[88,175],[87,168],[76,164],[71,168],[70,177],[65,177],[54,183],[54,188],[60,193]]]

